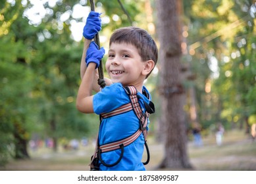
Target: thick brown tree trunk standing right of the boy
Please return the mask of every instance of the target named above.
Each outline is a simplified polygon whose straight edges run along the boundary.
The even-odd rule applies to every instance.
[[[157,0],[161,112],[165,127],[165,158],[160,168],[192,168],[188,159],[185,112],[186,95],[181,81],[180,0]]]

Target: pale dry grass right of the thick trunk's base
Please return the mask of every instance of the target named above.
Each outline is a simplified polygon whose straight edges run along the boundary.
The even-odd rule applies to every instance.
[[[256,170],[256,142],[243,132],[226,133],[221,146],[215,145],[213,136],[204,141],[203,147],[189,149],[196,170]]]

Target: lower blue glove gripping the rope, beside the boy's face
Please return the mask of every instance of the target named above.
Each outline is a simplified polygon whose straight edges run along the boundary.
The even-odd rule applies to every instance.
[[[94,62],[96,63],[95,68],[98,68],[99,62],[104,55],[105,49],[103,47],[99,49],[98,45],[94,41],[91,41],[90,46],[86,52],[86,66],[88,66],[90,62]]]

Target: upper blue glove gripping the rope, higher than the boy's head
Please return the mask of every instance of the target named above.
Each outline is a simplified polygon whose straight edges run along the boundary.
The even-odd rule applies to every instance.
[[[91,11],[84,26],[83,35],[86,39],[93,39],[101,30],[101,18],[99,12]]]

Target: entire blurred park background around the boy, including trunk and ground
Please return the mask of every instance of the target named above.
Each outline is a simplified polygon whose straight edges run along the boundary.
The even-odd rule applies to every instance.
[[[0,1],[0,170],[90,169],[99,117],[76,109],[90,10]],[[256,170],[255,0],[97,0],[95,11],[106,53],[124,26],[159,47],[145,81],[156,108],[147,170]]]

